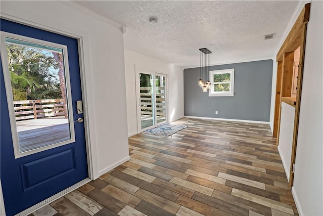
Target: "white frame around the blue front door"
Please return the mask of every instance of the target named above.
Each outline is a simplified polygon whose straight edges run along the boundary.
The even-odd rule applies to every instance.
[[[86,145],[86,153],[87,153],[87,167],[88,167],[88,179],[87,181],[81,181],[80,184],[84,185],[87,182],[91,181],[92,179],[96,179],[99,177],[99,171],[98,171],[98,161],[94,160],[93,158],[96,158],[96,142],[95,142],[95,124],[94,121],[91,121],[90,119],[94,119],[94,107],[93,107],[93,93],[92,93],[92,78],[91,78],[91,74],[90,73],[85,73],[85,71],[91,71],[91,66],[90,66],[90,49],[89,49],[89,37],[88,37],[88,33],[73,26],[70,27],[68,26],[66,29],[69,29],[68,31],[64,31],[64,30],[59,30],[56,28],[52,28],[50,26],[45,26],[39,23],[34,23],[25,19],[21,19],[18,17],[14,17],[12,15],[6,14],[1,12],[0,13],[0,17],[2,19],[6,19],[9,21],[13,21],[16,23],[20,23],[20,24],[24,24],[24,25],[28,25],[31,27],[35,27],[35,28],[39,28],[45,31],[49,31],[49,32],[53,32],[53,33],[58,33],[61,35],[65,35],[68,37],[72,37],[77,39],[78,41],[78,49],[79,49],[79,67],[80,67],[80,76],[81,76],[81,91],[82,91],[82,101],[83,101],[83,115],[84,115],[84,129],[85,129],[85,145]],[[73,30],[72,30],[73,29]],[[73,32],[74,33],[73,33]],[[90,129],[91,128],[91,129]],[[79,185],[79,183],[77,183],[75,185],[80,187],[81,185]],[[52,197],[55,197],[55,199],[58,199],[62,196],[64,196],[65,194],[75,190],[76,188],[70,187],[64,191],[62,191],[61,193],[57,194],[58,196],[54,195]],[[0,190],[0,197],[3,197],[2,194],[2,190]],[[53,200],[55,200],[53,199]],[[51,201],[53,201],[51,200]],[[38,203],[40,204],[40,203]],[[36,208],[33,208],[35,206],[32,206],[31,208],[33,208],[34,210],[37,210],[41,207],[43,207],[45,204],[43,205],[38,205],[36,204],[35,206],[37,206]],[[47,203],[46,203],[47,204]],[[5,208],[4,208],[4,201],[3,199],[0,198],[0,212],[4,212]],[[28,208],[28,209],[31,209]],[[28,209],[26,209],[25,211],[27,211]],[[24,211],[24,212],[25,212]]]

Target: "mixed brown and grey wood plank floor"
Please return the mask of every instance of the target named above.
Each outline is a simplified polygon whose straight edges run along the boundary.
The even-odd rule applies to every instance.
[[[129,138],[131,160],[38,215],[298,215],[266,124],[182,118]]]

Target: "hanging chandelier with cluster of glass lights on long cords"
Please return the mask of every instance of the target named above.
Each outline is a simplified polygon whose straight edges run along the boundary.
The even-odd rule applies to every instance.
[[[199,49],[200,53],[200,79],[198,85],[203,92],[207,92],[211,88],[211,82],[208,80],[210,71],[211,51],[206,48]]]

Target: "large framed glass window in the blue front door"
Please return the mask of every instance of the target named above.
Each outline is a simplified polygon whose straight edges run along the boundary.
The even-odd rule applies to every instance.
[[[32,153],[32,150],[45,146],[74,142],[64,46],[49,46],[45,41],[34,42],[36,39],[29,41],[6,36],[3,39],[6,49],[4,74],[15,153]]]

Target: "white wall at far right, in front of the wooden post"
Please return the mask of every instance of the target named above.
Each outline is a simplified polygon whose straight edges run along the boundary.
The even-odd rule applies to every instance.
[[[301,215],[323,215],[323,2],[312,1],[292,192]]]

